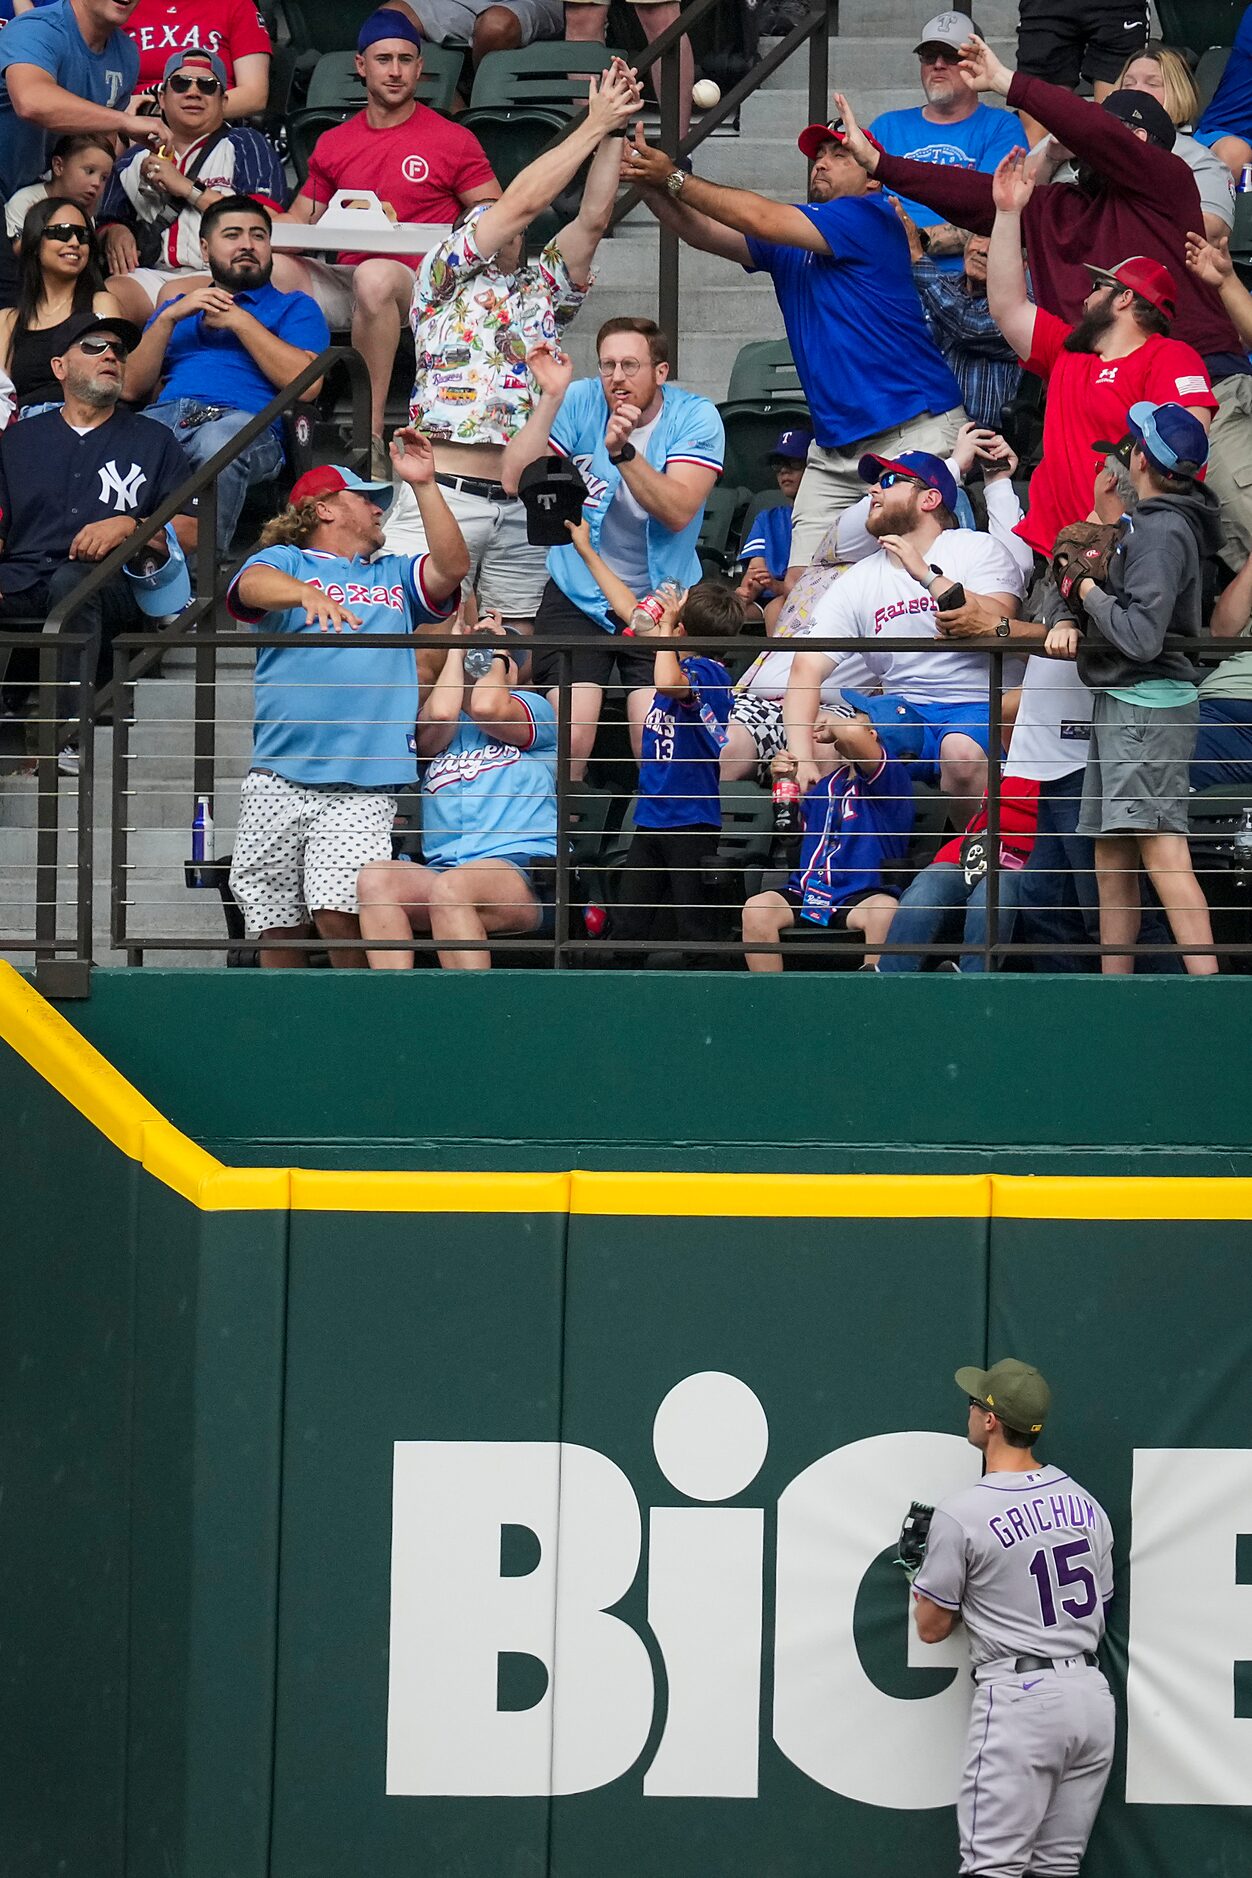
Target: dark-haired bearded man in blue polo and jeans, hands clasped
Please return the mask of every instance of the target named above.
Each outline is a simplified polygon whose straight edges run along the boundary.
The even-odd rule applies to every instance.
[[[128,396],[175,432],[191,464],[216,456],[330,344],[325,317],[306,293],[270,285],[270,214],[250,195],[223,195],[201,216],[201,254],[212,284],[161,300],[131,357]],[[319,381],[306,398],[315,398]],[[282,428],[240,451],[218,477],[218,548],[231,545],[252,483],[283,460]]]

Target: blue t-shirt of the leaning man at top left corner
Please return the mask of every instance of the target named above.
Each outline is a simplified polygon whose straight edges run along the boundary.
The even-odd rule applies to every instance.
[[[94,105],[124,111],[139,77],[139,47],[116,28],[103,53],[92,53],[79,32],[69,0],[34,8],[0,34],[0,193],[15,195],[38,182],[56,143],[54,130],[19,118],[4,73],[9,66],[39,66],[62,90]]]

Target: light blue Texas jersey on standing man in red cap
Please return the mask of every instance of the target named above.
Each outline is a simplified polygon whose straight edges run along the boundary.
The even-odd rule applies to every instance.
[[[449,603],[430,599],[422,584],[426,562],[426,554],[362,562],[295,546],[263,548],[244,562],[227,595],[235,618],[298,640],[257,652],[253,768],[291,783],[357,789],[417,781],[417,654],[411,646],[366,650],[360,642],[372,633],[409,633],[447,620],[456,595]],[[244,607],[238,582],[250,567],[278,567],[321,588],[355,612],[360,627],[323,633],[304,623],[302,607],[267,614]]]

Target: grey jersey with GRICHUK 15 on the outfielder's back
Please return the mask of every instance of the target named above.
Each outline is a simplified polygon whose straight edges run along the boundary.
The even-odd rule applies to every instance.
[[[961,1611],[974,1666],[1079,1656],[1104,1636],[1113,1527],[1059,1467],[987,1474],[935,1508],[912,1589]]]

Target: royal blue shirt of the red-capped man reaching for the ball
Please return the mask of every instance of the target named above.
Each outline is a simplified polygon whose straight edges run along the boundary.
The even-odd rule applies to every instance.
[[[802,210],[830,254],[755,235],[747,250],[773,278],[817,441],[845,451],[924,411],[950,411],[961,387],[931,338],[888,197],[843,195]]]

